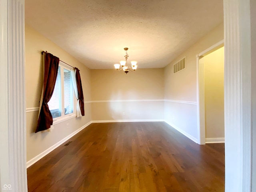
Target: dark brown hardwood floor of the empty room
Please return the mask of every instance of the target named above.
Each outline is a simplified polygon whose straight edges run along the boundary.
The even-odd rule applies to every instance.
[[[224,144],[164,122],[95,123],[64,144],[28,168],[29,192],[224,192]]]

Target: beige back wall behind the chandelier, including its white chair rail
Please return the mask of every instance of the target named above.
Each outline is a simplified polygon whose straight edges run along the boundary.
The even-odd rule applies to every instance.
[[[92,120],[164,119],[163,68],[91,70],[91,88]]]

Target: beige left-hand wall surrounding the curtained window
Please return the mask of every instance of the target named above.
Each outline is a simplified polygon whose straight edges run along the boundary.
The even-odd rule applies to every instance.
[[[41,51],[48,51],[60,60],[76,66],[80,70],[85,101],[91,100],[90,70],[66,51],[45,38],[27,24],[25,25],[25,65],[26,65],[26,124],[27,161],[50,148],[72,132],[91,121],[91,104],[85,104],[85,116],[72,118],[54,125],[52,132],[34,133],[38,119],[39,100],[43,85],[43,63]],[[32,108],[31,112],[28,112]],[[66,124],[69,128],[66,128]]]

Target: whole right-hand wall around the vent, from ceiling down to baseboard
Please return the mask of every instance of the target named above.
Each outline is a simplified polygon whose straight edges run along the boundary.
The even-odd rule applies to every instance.
[[[165,120],[194,141],[197,141],[196,54],[223,38],[224,28],[221,24],[164,68]],[[186,69],[173,74],[173,64],[185,56]]]

